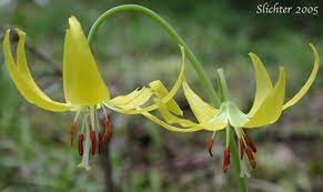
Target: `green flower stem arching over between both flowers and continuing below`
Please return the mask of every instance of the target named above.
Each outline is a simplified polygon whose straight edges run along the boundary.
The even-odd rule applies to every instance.
[[[88,41],[89,43],[91,43],[93,41],[94,34],[97,33],[99,27],[111,16],[117,14],[119,12],[128,12],[128,11],[134,11],[134,12],[140,12],[143,13],[145,16],[148,16],[149,18],[153,19],[160,27],[162,27],[165,32],[171,36],[172,40],[184,47],[186,55],[189,58],[189,60],[191,61],[191,64],[193,65],[193,68],[195,69],[208,95],[209,99],[211,100],[211,102],[213,103],[213,105],[219,107],[220,105],[220,101],[219,98],[216,95],[215,90],[212,87],[211,80],[208,78],[205,71],[202,68],[202,64],[199,62],[199,60],[196,59],[196,57],[193,54],[193,52],[191,51],[191,49],[188,47],[188,44],[184,42],[184,40],[176,33],[176,31],[164,20],[162,19],[159,14],[157,14],[155,12],[153,12],[152,10],[144,8],[142,6],[138,6],[138,4],[123,4],[123,6],[119,6],[115,8],[112,8],[108,11],[105,11],[104,13],[102,13],[97,21],[93,23],[93,26],[90,29],[89,36],[88,36]],[[239,181],[239,189],[241,192],[246,192],[246,185],[245,185],[245,180],[243,178],[240,178],[240,162],[239,162],[239,155],[238,155],[238,149],[233,139],[233,135],[231,134],[231,151],[232,151],[232,158],[233,158],[233,168],[234,168],[234,175]]]

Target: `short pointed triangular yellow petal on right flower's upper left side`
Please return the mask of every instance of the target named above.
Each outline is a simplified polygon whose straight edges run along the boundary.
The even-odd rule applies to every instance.
[[[204,102],[196,93],[194,93],[185,80],[183,81],[183,90],[191,110],[199,122],[208,122],[219,113],[215,108]]]

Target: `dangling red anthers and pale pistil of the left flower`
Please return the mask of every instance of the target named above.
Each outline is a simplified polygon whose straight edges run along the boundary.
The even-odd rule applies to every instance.
[[[98,110],[102,109],[104,120],[100,123]],[[81,129],[78,130],[80,120]],[[71,145],[78,133],[78,151],[82,156],[79,168],[90,170],[90,154],[95,155],[102,152],[103,143],[108,142],[112,134],[112,123],[103,105],[82,107],[77,111],[75,119],[71,124]]]

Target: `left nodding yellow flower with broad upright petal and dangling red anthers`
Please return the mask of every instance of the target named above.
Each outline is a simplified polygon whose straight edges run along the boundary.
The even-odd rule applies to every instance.
[[[102,142],[107,142],[111,137],[111,121],[107,115],[107,109],[124,114],[144,114],[152,121],[155,117],[150,111],[158,109],[160,104],[168,105],[168,110],[178,115],[183,113],[172,99],[184,79],[185,55],[182,47],[180,47],[182,52],[181,72],[170,91],[161,81],[157,80],[151,82],[150,87],[135,89],[129,94],[111,99],[81,24],[77,18],[71,17],[64,39],[63,91],[65,102],[63,103],[53,101],[37,85],[26,58],[26,33],[19,29],[16,29],[16,32],[19,36],[16,60],[10,48],[10,29],[7,30],[3,40],[4,62],[10,77],[19,92],[30,103],[54,112],[75,112],[74,121],[71,124],[71,144],[78,134],[79,154],[82,155],[80,168],[89,170],[90,154],[100,153]],[[149,104],[149,101],[154,98],[158,99],[159,104],[154,102]],[[101,128],[99,123],[99,110],[104,113],[104,128]]]

